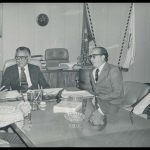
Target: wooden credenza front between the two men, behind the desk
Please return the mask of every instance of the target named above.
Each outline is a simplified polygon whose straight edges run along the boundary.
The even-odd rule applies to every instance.
[[[44,70],[42,71],[50,88],[76,87],[78,70]]]

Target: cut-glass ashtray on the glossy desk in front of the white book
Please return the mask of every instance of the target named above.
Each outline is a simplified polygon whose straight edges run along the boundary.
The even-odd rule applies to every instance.
[[[85,115],[79,112],[69,112],[64,114],[64,117],[70,122],[80,122],[85,118]]]

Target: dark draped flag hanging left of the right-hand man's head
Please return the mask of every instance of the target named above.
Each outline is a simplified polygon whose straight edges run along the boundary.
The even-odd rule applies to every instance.
[[[81,64],[88,65],[90,64],[88,55],[89,55],[89,43],[95,40],[89,23],[89,18],[87,14],[86,3],[83,6],[83,24],[82,24],[82,43],[81,43]]]

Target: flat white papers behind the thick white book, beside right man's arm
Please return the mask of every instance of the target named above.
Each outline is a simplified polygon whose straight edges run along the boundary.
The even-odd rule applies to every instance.
[[[89,93],[86,90],[80,90],[80,91],[67,91],[64,90],[61,95],[63,98],[68,98],[69,96],[83,96],[83,97],[93,97],[91,93]]]

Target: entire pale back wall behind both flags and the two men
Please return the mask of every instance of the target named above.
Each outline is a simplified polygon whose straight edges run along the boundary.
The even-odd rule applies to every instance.
[[[127,22],[130,3],[89,3],[97,45],[109,52],[109,62],[117,64]],[[3,36],[0,50],[3,65],[14,57],[17,47],[28,46],[32,54],[45,49],[65,47],[70,61],[80,55],[83,3],[4,3]],[[49,23],[40,27],[36,17],[49,16]],[[150,4],[135,3],[135,63],[124,73],[124,80],[150,81]],[[1,66],[2,66],[1,65]]]

